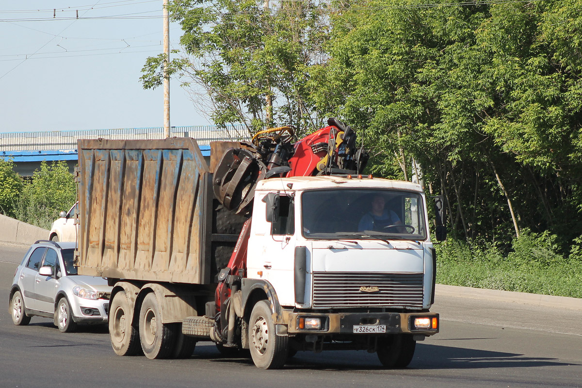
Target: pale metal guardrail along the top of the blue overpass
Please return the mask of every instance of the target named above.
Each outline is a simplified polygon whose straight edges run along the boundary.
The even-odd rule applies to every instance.
[[[226,129],[214,125],[172,127],[171,137],[193,137],[198,144],[213,140],[249,140],[242,125]],[[96,129],[73,131],[36,131],[0,133],[0,151],[69,150],[77,148],[77,139],[147,140],[164,138],[163,127]]]

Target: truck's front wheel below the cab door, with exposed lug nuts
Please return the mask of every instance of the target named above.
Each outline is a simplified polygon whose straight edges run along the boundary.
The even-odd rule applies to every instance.
[[[249,321],[249,346],[254,364],[260,369],[278,369],[285,365],[289,353],[289,337],[275,333],[271,305],[258,301]]]

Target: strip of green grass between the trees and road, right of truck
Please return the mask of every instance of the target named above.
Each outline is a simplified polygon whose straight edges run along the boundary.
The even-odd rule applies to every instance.
[[[495,247],[449,240],[436,246],[437,283],[582,298],[580,239],[574,243],[564,256],[555,236],[524,230],[504,255]]]

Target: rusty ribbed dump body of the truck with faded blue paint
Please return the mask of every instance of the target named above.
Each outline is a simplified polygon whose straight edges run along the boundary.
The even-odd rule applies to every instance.
[[[79,273],[214,283],[244,222],[217,210],[212,194],[208,165],[229,144],[213,144],[210,161],[192,138],[77,145]]]

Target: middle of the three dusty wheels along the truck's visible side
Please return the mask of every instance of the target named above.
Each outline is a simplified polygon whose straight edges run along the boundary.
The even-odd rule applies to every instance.
[[[176,340],[175,325],[162,323],[161,309],[154,293],[145,296],[140,309],[140,342],[145,357],[172,357]]]

